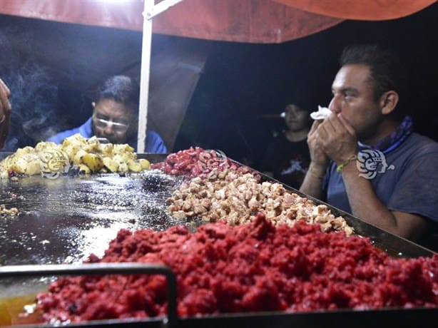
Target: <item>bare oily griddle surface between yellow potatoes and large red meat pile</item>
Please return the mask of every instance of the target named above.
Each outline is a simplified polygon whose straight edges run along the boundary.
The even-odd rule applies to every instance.
[[[1,203],[19,209],[18,216],[0,218],[1,264],[78,262],[91,251],[103,254],[123,227],[163,230],[181,224],[165,210],[179,180],[158,171],[0,180]]]

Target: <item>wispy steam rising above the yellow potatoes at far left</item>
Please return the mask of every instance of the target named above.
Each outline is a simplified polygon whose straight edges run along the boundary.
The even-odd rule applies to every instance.
[[[1,151],[34,146],[59,130],[58,86],[32,55],[31,44],[30,34],[0,30],[0,78],[11,90],[12,106],[11,129]]]

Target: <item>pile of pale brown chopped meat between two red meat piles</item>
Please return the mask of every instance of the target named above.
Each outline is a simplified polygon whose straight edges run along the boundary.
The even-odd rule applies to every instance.
[[[175,190],[166,203],[170,204],[168,210],[172,215],[179,218],[200,217],[207,222],[225,219],[230,225],[242,225],[253,220],[257,212],[263,212],[275,225],[294,225],[296,220],[305,220],[320,223],[326,232],[343,230],[347,235],[353,232],[345,219],[335,217],[327,205],[315,205],[280,183],[260,183],[250,173],[237,170],[193,178]]]

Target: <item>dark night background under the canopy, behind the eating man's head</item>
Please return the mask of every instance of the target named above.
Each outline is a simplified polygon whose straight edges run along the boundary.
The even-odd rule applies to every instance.
[[[407,63],[409,102],[419,132],[438,139],[438,4],[392,21],[344,21],[318,34],[280,44],[213,42],[174,150],[200,145],[256,166],[287,103],[327,105],[342,48],[379,42]]]

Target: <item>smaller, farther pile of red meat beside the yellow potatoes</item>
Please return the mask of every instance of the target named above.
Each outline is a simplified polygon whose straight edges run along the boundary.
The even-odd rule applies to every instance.
[[[253,170],[247,166],[238,165],[225,156],[222,157],[215,150],[204,150],[200,147],[190,147],[171,153],[163,162],[153,163],[151,168],[162,170],[170,175],[185,175],[189,178],[205,178],[213,170],[237,170],[241,173],[250,173]],[[259,177],[260,178],[260,177]]]

